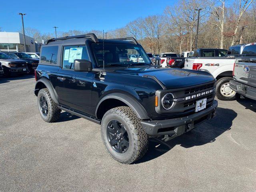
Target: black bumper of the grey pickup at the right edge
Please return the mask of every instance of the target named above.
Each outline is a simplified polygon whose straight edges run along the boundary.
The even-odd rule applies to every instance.
[[[256,100],[255,87],[252,87],[234,80],[230,80],[230,88],[242,96]]]

